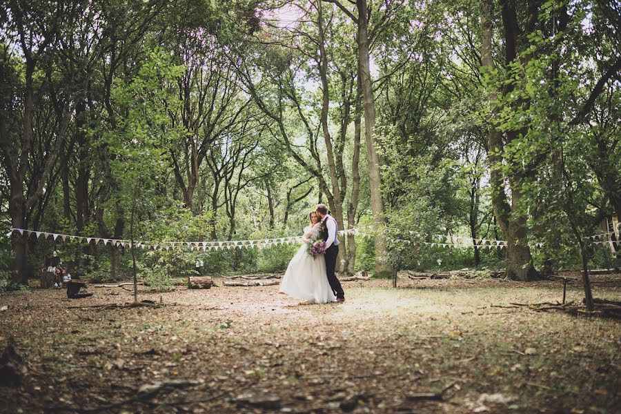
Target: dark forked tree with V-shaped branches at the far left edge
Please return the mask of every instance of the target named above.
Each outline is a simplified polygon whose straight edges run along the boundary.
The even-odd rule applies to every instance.
[[[3,3],[7,10],[6,28],[3,31],[2,61],[0,77],[1,83],[6,85],[8,95],[3,94],[3,108],[0,110],[0,150],[3,155],[3,165],[8,176],[10,186],[9,215],[14,228],[24,228],[26,214],[43,195],[43,191],[52,169],[55,167],[65,139],[65,132],[71,119],[71,89],[72,81],[68,79],[66,95],[48,95],[55,101],[54,116],[57,118],[57,128],[47,135],[50,148],[44,168],[39,170],[37,177],[30,177],[32,193],[26,196],[25,188],[28,170],[34,160],[31,158],[33,141],[33,117],[37,110],[37,97],[50,93],[50,83],[35,80],[37,75],[45,73],[51,68],[57,48],[57,39],[61,30],[63,14],[71,14],[75,9],[63,3],[18,1]],[[13,57],[13,48],[19,48],[19,55],[23,61]],[[21,60],[20,59],[20,60]],[[22,66],[23,64],[23,66]],[[19,69],[18,69],[19,68]],[[19,75],[18,75],[19,74]],[[23,84],[19,78],[23,77]],[[23,107],[15,107],[19,101]],[[12,117],[21,119],[19,130],[9,130],[8,124]],[[42,155],[42,154],[41,154]],[[12,264],[12,279],[14,282],[26,283],[28,275],[23,273],[26,265],[26,243],[19,233],[12,235],[12,250],[14,261]]]

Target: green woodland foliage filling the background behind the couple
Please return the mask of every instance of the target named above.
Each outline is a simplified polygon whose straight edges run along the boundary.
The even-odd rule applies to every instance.
[[[509,217],[528,217],[522,242],[532,246],[535,264],[553,258],[557,267],[577,266],[576,242],[599,233],[602,218],[620,210],[618,81],[604,82],[593,106],[576,118],[617,59],[615,10],[606,2],[537,4],[539,20],[520,37],[518,59],[506,63],[495,8],[489,16],[495,68],[489,69],[480,68],[483,3],[392,4],[400,7],[371,13],[371,26],[380,24],[371,53],[388,222],[382,231],[391,252],[386,259],[396,268],[472,268],[472,248],[423,243],[435,241],[433,234],[470,235],[471,224],[477,237],[506,238],[500,224],[494,227],[491,204],[490,157],[498,157],[497,189],[507,199],[520,195]],[[515,4],[518,23],[527,28],[529,10]],[[20,213],[30,226],[124,239],[133,230],[134,239],[157,242],[261,239],[299,234],[317,198],[329,198],[317,197],[318,178],[324,193],[336,184],[319,124],[317,9],[308,8],[295,26],[308,35],[291,36],[264,24],[273,10],[262,11],[260,2],[189,1],[184,13],[172,12],[178,6],[138,1],[104,10],[99,3],[63,3],[57,14],[35,2],[24,9],[26,33],[35,43],[43,37],[32,21],[55,30],[33,75],[33,134],[26,177],[17,184],[26,197],[36,189],[63,105],[72,114],[44,194]],[[337,180],[346,210],[357,28],[333,3],[324,1],[322,8],[328,130],[336,163],[344,166]],[[10,159],[20,159],[26,148],[20,144],[26,66],[13,52],[18,23],[8,19],[0,44],[0,121],[11,138],[1,149]],[[341,136],[344,119],[348,130]],[[489,141],[494,130],[502,144],[497,148]],[[373,221],[366,150],[363,137],[357,214],[348,226]],[[7,231],[9,178],[2,168],[0,218]],[[28,262],[37,267],[57,250],[65,262],[77,259],[75,275],[108,279],[109,247],[77,243],[37,240],[29,245]],[[204,262],[201,272],[212,275],[282,271],[297,247],[202,252],[184,246],[137,250],[136,259],[141,277],[169,288],[175,278],[193,274],[197,259]],[[586,250],[594,264],[618,264],[601,246]],[[3,239],[1,269],[10,267],[9,252]],[[119,277],[131,275],[129,253],[121,249]],[[504,267],[496,249],[480,253],[480,266]],[[375,259],[373,237],[358,237],[355,268],[372,270]]]

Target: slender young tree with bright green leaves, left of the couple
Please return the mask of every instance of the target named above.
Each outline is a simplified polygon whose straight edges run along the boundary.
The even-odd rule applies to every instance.
[[[130,248],[134,278],[134,300],[137,302],[137,265],[135,257],[136,222],[157,199],[160,175],[166,167],[166,139],[181,135],[170,123],[166,102],[172,99],[172,83],[184,70],[170,63],[166,52],[146,51],[137,75],[129,83],[112,89],[112,103],[124,116],[116,128],[103,132],[110,152],[110,174],[117,183],[115,203],[130,211]]]

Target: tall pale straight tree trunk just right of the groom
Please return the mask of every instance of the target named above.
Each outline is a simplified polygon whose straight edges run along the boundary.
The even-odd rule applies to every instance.
[[[382,200],[382,181],[380,176],[380,157],[375,149],[375,98],[373,97],[373,81],[369,65],[369,40],[368,20],[369,9],[366,0],[357,0],[358,10],[358,75],[362,83],[362,96],[364,99],[364,137],[368,158],[368,182],[371,190],[371,212],[373,224],[377,230],[375,235],[375,272],[391,272],[388,262],[388,248],[386,247],[386,234],[384,227],[384,201]]]

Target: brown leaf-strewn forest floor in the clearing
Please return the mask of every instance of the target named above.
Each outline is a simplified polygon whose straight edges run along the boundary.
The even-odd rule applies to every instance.
[[[620,322],[497,307],[560,301],[560,282],[391,284],[322,305],[278,286],[141,291],[164,306],[138,308],[122,288],[3,294],[0,352],[13,342],[25,375],[0,412],[620,412]],[[621,282],[593,291],[618,300]]]

